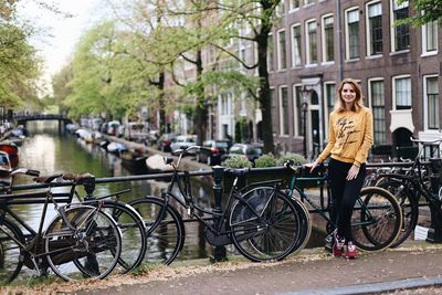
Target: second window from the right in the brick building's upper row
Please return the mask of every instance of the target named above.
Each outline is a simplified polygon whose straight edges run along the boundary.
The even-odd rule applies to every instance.
[[[392,22],[391,22],[391,51],[408,50],[410,48],[410,25],[394,25],[398,20],[408,18],[408,1],[398,4],[397,0],[391,0]]]

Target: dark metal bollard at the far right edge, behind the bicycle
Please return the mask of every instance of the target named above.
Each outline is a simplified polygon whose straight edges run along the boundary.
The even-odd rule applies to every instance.
[[[441,172],[441,159],[432,158],[430,159],[431,167],[431,193],[436,199],[439,198],[439,186],[440,186],[440,172]],[[431,212],[431,228],[429,229],[427,242],[430,243],[442,243],[442,210],[441,201],[434,200],[430,201],[430,212]]]

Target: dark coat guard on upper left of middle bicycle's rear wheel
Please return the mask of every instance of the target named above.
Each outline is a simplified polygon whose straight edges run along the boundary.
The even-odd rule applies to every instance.
[[[230,225],[239,225],[260,217],[272,197],[273,188],[261,187],[248,191],[243,201],[239,201],[232,211]]]

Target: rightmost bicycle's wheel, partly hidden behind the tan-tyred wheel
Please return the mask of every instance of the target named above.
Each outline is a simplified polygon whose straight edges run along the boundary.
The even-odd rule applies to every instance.
[[[412,233],[419,219],[419,201],[415,192],[408,187],[402,186],[402,181],[391,178],[381,178],[377,182],[377,187],[388,190],[398,200],[402,209],[402,224],[398,239],[391,244],[397,247],[402,244]]]

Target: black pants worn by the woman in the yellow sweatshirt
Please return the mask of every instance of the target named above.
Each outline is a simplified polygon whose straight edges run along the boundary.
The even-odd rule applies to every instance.
[[[339,238],[351,241],[351,213],[356,199],[366,178],[366,165],[359,168],[358,176],[352,180],[347,180],[348,170],[352,164],[330,159],[328,164],[328,180],[332,191],[332,221],[336,221]],[[334,211],[334,212],[333,212]]]

